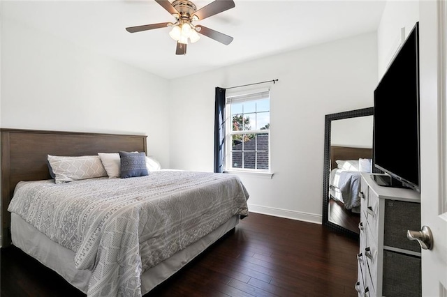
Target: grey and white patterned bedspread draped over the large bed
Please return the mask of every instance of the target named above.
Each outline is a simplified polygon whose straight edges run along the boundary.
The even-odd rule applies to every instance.
[[[21,181],[8,211],[75,252],[87,296],[141,296],[140,275],[233,215],[249,195],[232,174],[160,171],[55,184]]]

